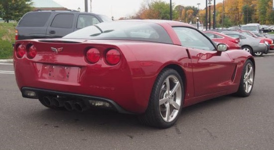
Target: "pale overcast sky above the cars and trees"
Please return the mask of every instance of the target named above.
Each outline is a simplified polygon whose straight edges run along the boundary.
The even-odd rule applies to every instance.
[[[85,0],[54,0],[60,5],[68,8],[81,11],[85,11]],[[144,0],[88,0],[89,1],[89,12],[90,9],[93,13],[104,14],[109,17],[114,17],[114,19],[119,19],[120,17],[127,17],[134,15],[140,8],[141,3]],[[90,5],[92,1],[92,5]],[[170,0],[162,0],[165,2],[170,2]],[[216,0],[216,3],[223,2],[223,0]],[[199,8],[203,9],[206,6],[206,0],[172,0],[172,3],[176,5],[183,6],[195,6],[198,7],[197,3],[200,3]],[[213,3],[213,0],[212,0]],[[91,7],[90,7],[91,6]]]

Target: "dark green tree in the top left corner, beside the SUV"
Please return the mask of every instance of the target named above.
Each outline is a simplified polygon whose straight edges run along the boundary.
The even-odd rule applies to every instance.
[[[0,17],[6,21],[18,21],[26,12],[33,9],[31,0],[1,0]]]

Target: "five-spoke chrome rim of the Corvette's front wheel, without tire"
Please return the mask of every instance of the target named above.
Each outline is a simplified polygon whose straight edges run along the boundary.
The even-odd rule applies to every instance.
[[[250,93],[253,87],[254,71],[253,66],[249,63],[246,66],[246,72],[244,75],[244,90],[246,93]]]

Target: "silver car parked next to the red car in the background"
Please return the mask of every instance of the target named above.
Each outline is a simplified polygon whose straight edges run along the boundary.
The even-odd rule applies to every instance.
[[[268,45],[264,39],[253,38],[249,35],[239,32],[225,31],[222,33],[233,38],[239,38],[241,48],[253,54],[254,56],[262,56],[263,53],[268,53]]]

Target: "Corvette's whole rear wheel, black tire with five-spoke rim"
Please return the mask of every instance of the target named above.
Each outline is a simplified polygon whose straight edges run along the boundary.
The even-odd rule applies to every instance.
[[[172,91],[176,92],[170,93]],[[171,127],[181,113],[183,99],[184,89],[180,75],[174,69],[163,69],[156,78],[145,113],[139,115],[140,122],[157,128]]]

